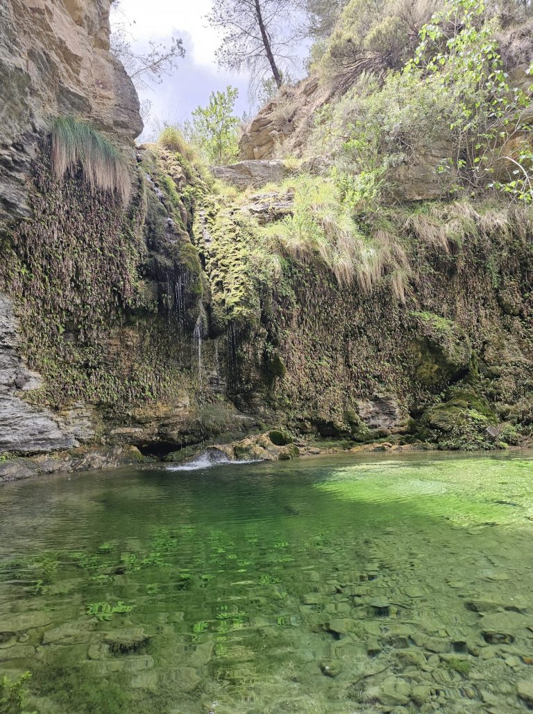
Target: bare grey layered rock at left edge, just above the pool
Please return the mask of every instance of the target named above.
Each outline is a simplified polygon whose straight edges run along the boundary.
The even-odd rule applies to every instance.
[[[0,293],[0,453],[36,453],[76,446],[71,431],[51,413],[23,401],[17,393],[38,388],[41,378],[29,371],[17,351],[16,318]]]

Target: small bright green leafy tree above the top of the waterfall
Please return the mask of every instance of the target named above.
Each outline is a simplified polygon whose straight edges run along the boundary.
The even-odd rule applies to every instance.
[[[239,91],[227,86],[224,91],[212,91],[209,104],[192,112],[192,121],[186,122],[184,134],[197,146],[209,164],[229,164],[239,152],[238,136],[241,120],[233,109]]]

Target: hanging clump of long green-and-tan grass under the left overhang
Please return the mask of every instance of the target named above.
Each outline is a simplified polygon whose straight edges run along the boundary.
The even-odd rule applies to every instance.
[[[103,188],[128,203],[131,180],[124,155],[87,121],[60,116],[51,126],[51,162],[59,178],[81,168],[91,188]]]

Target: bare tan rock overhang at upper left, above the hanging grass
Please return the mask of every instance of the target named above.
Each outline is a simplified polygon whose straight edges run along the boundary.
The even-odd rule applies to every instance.
[[[26,178],[51,116],[92,121],[119,144],[143,130],[110,53],[110,0],[0,0],[0,228],[29,216]]]

